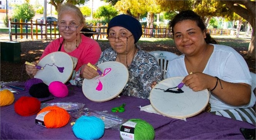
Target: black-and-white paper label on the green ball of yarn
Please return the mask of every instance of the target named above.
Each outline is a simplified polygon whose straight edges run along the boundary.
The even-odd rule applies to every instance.
[[[123,140],[134,140],[134,129],[136,122],[128,121],[121,125],[120,136]]]

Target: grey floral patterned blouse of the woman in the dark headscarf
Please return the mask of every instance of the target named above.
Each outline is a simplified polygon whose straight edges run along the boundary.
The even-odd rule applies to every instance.
[[[153,81],[160,82],[163,80],[162,72],[157,60],[152,55],[141,50],[138,46],[137,48],[138,52],[128,68],[128,82],[121,94],[149,99],[149,94],[152,89],[150,85]],[[117,53],[112,48],[108,48],[101,53],[96,65],[108,61],[116,61],[116,56]],[[79,76],[80,72],[81,68],[76,72],[76,77]],[[82,86],[83,79],[76,79],[76,82],[78,86]]]

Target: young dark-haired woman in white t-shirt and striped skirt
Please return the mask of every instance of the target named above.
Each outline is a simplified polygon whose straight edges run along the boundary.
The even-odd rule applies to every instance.
[[[169,62],[165,78],[184,76],[182,82],[193,91],[208,89],[212,114],[255,124],[252,78],[243,57],[229,46],[216,44],[202,18],[191,10],[177,14],[170,28],[183,54]]]

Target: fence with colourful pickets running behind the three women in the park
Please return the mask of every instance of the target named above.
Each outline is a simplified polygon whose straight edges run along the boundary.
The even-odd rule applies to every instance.
[[[94,24],[95,25],[95,24]],[[93,38],[100,38],[100,39],[106,39],[107,36],[107,27],[108,24],[103,25],[97,23],[96,26],[88,26],[87,28],[91,31],[97,32],[97,34],[93,35]],[[12,31],[12,28],[14,28],[14,32]],[[24,31],[25,30],[25,33]],[[142,37],[144,38],[172,38],[171,31],[168,30],[166,26],[157,26],[157,27],[150,27],[150,26],[142,26]],[[231,35],[232,31],[229,29],[208,29],[208,33],[211,35]],[[28,39],[56,39],[59,38],[59,31],[57,29],[57,23],[54,21],[54,23],[45,24],[37,23],[37,20],[33,22],[30,20],[30,22],[27,22],[25,20],[25,23],[23,23],[22,20],[20,22],[17,22],[15,19],[14,22],[11,22],[9,19],[9,35],[10,35],[10,41],[13,40],[13,36],[15,36],[15,39],[17,38],[25,38]]]

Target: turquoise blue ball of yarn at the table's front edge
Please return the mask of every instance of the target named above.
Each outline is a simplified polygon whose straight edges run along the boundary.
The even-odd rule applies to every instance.
[[[72,126],[74,135],[83,140],[96,140],[103,136],[105,124],[94,116],[82,116]]]

